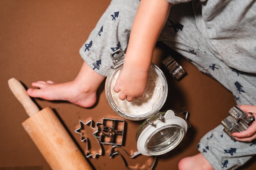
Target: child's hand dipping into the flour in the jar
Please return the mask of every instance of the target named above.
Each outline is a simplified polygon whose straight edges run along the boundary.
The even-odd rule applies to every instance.
[[[114,86],[115,93],[119,93],[119,99],[132,102],[133,99],[141,99],[148,84],[148,71],[139,68],[124,67]]]

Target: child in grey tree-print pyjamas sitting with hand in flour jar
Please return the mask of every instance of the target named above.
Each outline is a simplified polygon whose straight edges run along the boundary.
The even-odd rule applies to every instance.
[[[64,84],[35,82],[32,86],[40,89],[30,88],[27,93],[31,97],[93,106],[97,88],[112,65],[109,54],[121,48],[126,57],[114,91],[119,92],[121,100],[141,99],[158,40],[217,79],[234,94],[238,104],[256,105],[254,1],[186,1],[189,0],[112,0],[80,49],[85,62],[76,79]],[[256,113],[256,106],[241,108]],[[201,139],[200,153],[182,159],[179,168],[236,169],[256,154],[254,143],[238,140],[252,141],[255,133],[256,123],[244,132],[234,133],[237,141],[233,141],[223,133],[221,125],[217,126]],[[228,152],[230,148],[236,151]]]

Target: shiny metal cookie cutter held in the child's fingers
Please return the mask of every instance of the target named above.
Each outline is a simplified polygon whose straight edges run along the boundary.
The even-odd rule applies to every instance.
[[[246,130],[254,120],[255,118],[251,113],[245,113],[238,106],[234,106],[229,110],[229,116],[222,120],[221,124],[224,126],[224,132],[231,139],[236,139],[236,137],[232,136],[232,133]]]

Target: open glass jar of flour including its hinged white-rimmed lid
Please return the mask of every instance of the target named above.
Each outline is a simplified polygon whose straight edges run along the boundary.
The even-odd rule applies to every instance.
[[[117,58],[115,58],[116,53],[119,54]],[[111,66],[113,71],[105,83],[105,95],[108,104],[117,115],[125,119],[146,120],[136,133],[137,148],[142,155],[162,155],[169,152],[182,141],[188,126],[187,122],[173,110],[159,111],[166,102],[168,94],[164,73],[152,63],[148,86],[144,93],[144,97],[148,98],[134,99],[132,101],[134,103],[126,100],[121,101],[118,98],[119,93],[114,92],[114,85],[123,68],[125,53],[118,49],[110,56],[113,59]]]

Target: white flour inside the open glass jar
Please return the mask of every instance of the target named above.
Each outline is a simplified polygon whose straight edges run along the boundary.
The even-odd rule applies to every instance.
[[[130,115],[142,115],[153,110],[162,97],[162,81],[157,73],[150,68],[148,86],[144,92],[144,97],[140,100],[134,99],[132,102],[125,100],[120,100],[118,95],[119,93],[114,92],[115,82],[119,76],[120,71],[118,71],[113,79],[111,84],[111,95],[115,104],[126,114]]]

